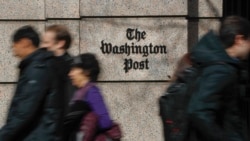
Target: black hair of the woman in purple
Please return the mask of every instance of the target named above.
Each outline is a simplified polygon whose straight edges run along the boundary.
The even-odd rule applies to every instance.
[[[100,73],[99,62],[92,53],[84,53],[73,59],[71,67],[78,67],[84,71],[88,71],[91,82],[96,82]]]

